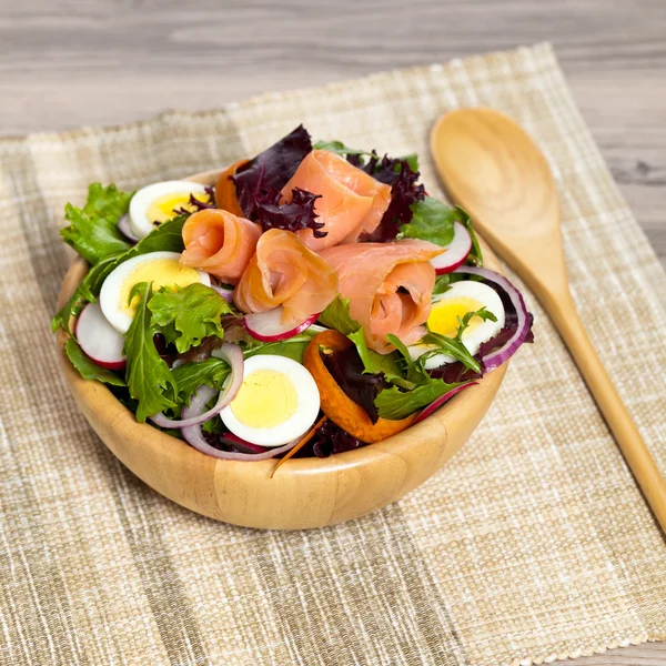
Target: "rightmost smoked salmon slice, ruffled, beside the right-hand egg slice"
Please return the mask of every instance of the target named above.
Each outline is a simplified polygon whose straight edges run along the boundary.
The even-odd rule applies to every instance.
[[[435,285],[430,260],[443,251],[407,239],[337,245],[321,255],[337,271],[337,289],[350,300],[350,314],[363,326],[367,346],[387,354],[394,349],[387,334],[406,345],[425,335]]]

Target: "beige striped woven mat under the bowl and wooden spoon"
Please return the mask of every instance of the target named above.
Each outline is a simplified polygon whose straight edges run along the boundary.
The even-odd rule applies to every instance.
[[[89,182],[225,165],[303,121],[316,138],[418,151],[440,194],[428,129],[476,104],[545,150],[575,300],[666,470],[666,278],[548,46],[2,140],[1,664],[529,664],[666,638],[663,535],[529,294],[536,344],[462,453],[404,501],[321,531],[241,529],[163,500],[59,376],[49,316],[70,255],[58,229]]]

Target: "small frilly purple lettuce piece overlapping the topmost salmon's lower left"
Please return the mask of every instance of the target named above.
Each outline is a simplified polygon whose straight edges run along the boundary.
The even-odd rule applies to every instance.
[[[263,231],[312,229],[315,239],[323,239],[327,232],[321,231],[324,223],[316,221],[314,202],[317,199],[321,199],[321,194],[313,194],[300,188],[292,190],[292,200],[289,203],[281,203],[283,196],[280,190],[262,192],[254,199],[255,220]]]

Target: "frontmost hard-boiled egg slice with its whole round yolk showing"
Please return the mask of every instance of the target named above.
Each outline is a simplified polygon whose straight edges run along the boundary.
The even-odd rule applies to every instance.
[[[243,384],[220,416],[246,442],[282,446],[304,435],[319,410],[319,389],[303,365],[286,356],[260,354],[245,361]]]

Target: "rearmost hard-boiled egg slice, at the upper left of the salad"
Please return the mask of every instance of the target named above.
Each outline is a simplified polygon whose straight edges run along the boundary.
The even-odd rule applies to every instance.
[[[130,228],[134,235],[147,236],[159,224],[174,218],[181,208],[194,212],[190,194],[208,200],[205,188],[190,181],[164,181],[139,190],[130,201]]]

